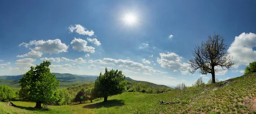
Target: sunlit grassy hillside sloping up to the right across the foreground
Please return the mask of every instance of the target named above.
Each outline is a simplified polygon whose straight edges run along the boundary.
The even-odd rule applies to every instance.
[[[157,100],[180,103],[161,105]],[[35,103],[13,102],[14,108],[0,103],[4,113],[62,113],[62,114],[255,114],[256,113],[256,73],[237,77],[224,82],[186,90],[173,90],[162,94],[125,92],[108,98],[93,100],[94,103],[78,105],[49,106],[48,111],[31,111]]]

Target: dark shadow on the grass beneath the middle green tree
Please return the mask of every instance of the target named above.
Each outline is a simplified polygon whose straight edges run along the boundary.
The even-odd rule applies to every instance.
[[[102,107],[112,107],[112,106],[122,106],[125,105],[123,103],[124,100],[108,100],[107,102],[99,102],[95,104],[90,104],[90,105],[84,105],[83,108],[102,108]]]

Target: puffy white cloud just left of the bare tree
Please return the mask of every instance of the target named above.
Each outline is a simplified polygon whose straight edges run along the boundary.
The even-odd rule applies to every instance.
[[[169,68],[170,70],[180,70],[185,71],[188,70],[189,64],[182,62],[182,57],[179,57],[179,55],[175,53],[160,53],[159,54],[161,58],[157,58],[157,62],[161,65],[163,68]]]

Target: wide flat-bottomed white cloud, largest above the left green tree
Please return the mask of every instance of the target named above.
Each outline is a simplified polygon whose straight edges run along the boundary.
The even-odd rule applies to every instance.
[[[61,40],[39,40],[30,41],[29,43],[21,43],[19,46],[29,46],[35,45],[31,51],[27,54],[17,55],[16,57],[41,57],[43,53],[58,54],[60,52],[67,52],[68,46],[65,43],[61,43]]]

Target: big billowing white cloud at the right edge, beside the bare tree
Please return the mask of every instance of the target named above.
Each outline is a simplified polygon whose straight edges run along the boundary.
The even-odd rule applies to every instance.
[[[227,52],[233,56],[235,65],[249,65],[256,61],[256,34],[254,33],[241,33],[228,48]],[[244,57],[246,59],[244,59]]]

